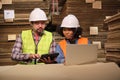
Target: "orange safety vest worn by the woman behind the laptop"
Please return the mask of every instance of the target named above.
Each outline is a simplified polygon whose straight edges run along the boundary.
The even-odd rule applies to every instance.
[[[66,44],[67,44],[67,42],[66,42],[65,39],[59,42],[59,45],[60,45],[65,57],[66,57]],[[77,44],[88,44],[88,38],[80,38],[80,39],[78,39]]]

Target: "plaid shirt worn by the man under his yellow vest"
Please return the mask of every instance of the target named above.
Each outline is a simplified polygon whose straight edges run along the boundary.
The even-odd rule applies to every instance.
[[[44,34],[43,34],[44,35]],[[35,35],[33,34],[33,38],[34,38],[34,41],[36,39]],[[41,37],[39,38],[39,40],[41,39]],[[51,43],[51,46],[50,46],[50,50],[49,50],[49,53],[54,53],[55,52],[55,47],[56,47],[56,43],[55,43],[55,40],[52,41]],[[16,42],[13,46],[13,49],[12,49],[12,59],[13,60],[17,60],[17,61],[29,61],[29,55],[30,54],[24,54],[22,53],[22,38],[21,38],[21,35],[19,35],[16,39]]]

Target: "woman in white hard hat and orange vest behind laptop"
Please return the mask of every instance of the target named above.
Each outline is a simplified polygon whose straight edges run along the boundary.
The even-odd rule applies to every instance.
[[[57,57],[58,63],[63,63],[66,57],[66,44],[89,44],[88,38],[81,37],[82,28],[75,15],[67,15],[58,29],[58,32],[65,39],[61,40],[56,46],[56,52],[59,53]]]

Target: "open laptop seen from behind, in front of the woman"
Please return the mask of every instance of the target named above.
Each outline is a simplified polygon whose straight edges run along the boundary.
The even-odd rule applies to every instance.
[[[96,44],[67,44],[65,65],[96,63],[97,50]]]

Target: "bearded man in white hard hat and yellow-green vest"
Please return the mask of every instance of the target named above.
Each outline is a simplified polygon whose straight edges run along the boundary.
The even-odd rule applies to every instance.
[[[22,31],[18,36],[12,50],[12,59],[20,63],[43,62],[46,64],[55,63],[50,57],[40,59],[42,54],[54,53],[56,43],[53,40],[52,33],[45,29],[47,16],[40,8],[35,8],[29,17],[32,30]]]

